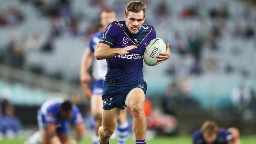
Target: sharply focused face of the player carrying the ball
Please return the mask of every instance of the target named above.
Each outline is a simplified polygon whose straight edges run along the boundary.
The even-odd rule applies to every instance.
[[[129,11],[127,15],[124,15],[125,24],[131,34],[135,35],[139,32],[142,27],[142,24],[145,21],[143,11],[139,13],[134,13]]]

